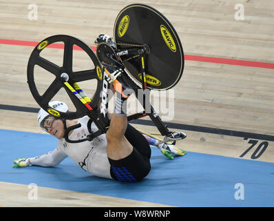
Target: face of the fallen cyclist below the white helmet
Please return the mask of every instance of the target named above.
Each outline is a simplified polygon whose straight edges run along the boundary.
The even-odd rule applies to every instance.
[[[52,116],[49,116],[45,119],[44,128],[53,135],[54,137],[60,139],[65,135],[65,127],[61,119],[55,119]]]

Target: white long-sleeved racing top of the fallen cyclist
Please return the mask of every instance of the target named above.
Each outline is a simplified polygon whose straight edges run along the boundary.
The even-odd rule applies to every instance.
[[[85,116],[78,119],[81,127],[74,129],[70,135],[70,140],[82,140],[89,135],[87,122],[89,117]],[[98,131],[98,128],[92,122],[92,132]],[[98,177],[112,179],[110,175],[110,164],[107,158],[107,139],[105,134],[95,137],[92,141],[80,143],[68,143],[65,138],[58,141],[58,146],[54,151],[45,153],[39,157],[31,157],[30,164],[37,166],[56,166],[65,157],[70,157],[72,160],[81,166],[81,168]]]

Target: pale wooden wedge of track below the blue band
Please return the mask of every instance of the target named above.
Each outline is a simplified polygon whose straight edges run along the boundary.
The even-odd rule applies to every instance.
[[[35,188],[35,189],[34,189]],[[163,207],[164,204],[127,200],[92,193],[52,189],[34,184],[0,182],[0,206],[3,207]],[[33,191],[36,191],[34,195]],[[16,196],[16,197],[14,197]]]

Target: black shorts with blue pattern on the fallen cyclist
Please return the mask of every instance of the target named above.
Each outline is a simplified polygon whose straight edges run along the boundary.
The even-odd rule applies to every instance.
[[[133,126],[127,124],[125,137],[133,146],[133,151],[121,160],[109,159],[110,174],[114,180],[138,182],[150,171],[151,149],[145,137]]]

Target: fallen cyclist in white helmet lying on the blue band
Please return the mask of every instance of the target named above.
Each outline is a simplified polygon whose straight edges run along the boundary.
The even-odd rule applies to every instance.
[[[117,71],[112,66],[105,67],[105,73],[110,75]],[[123,71],[123,70],[120,70]],[[105,177],[122,182],[138,182],[148,175],[151,165],[151,148],[157,146],[167,156],[170,153],[185,155],[185,151],[175,148],[173,145],[161,143],[148,135],[142,135],[133,126],[127,123],[127,98],[125,91],[129,88],[123,81],[123,77],[117,77],[113,85],[116,93],[114,113],[110,115],[110,124],[107,133],[95,137],[91,141],[69,143],[64,135],[67,128],[80,123],[81,127],[70,131],[70,140],[80,140],[89,133],[98,131],[98,128],[89,121],[88,116],[80,119],[65,120],[54,117],[42,108],[38,113],[38,122],[44,131],[58,139],[58,145],[54,151],[39,157],[19,158],[14,160],[14,167],[24,166],[56,166],[66,157],[71,157],[81,168],[98,177]],[[56,111],[66,112],[68,107],[64,102],[50,102]],[[90,128],[88,128],[88,125]]]

